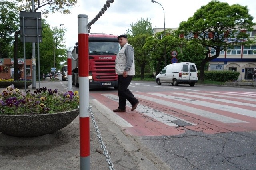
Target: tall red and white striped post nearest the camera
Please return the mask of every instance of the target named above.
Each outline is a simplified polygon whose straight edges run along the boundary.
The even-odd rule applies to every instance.
[[[88,15],[78,15],[80,169],[90,170]]]

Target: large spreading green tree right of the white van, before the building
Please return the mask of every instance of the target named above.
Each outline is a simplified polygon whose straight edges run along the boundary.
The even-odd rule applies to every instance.
[[[247,6],[213,0],[198,9],[187,21],[180,23],[178,31],[188,40],[206,47],[205,58],[200,65],[200,81],[204,81],[204,66],[217,58],[220,51],[233,49],[235,45],[250,44],[246,31],[252,31],[253,17]],[[209,56],[214,49],[216,54]]]

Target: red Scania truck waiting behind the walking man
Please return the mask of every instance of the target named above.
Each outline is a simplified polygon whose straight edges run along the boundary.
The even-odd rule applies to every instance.
[[[89,40],[89,87],[118,87],[118,76],[115,71],[115,60],[120,45],[117,36],[112,34],[95,34]],[[72,50],[72,85],[78,84],[78,43]],[[86,67],[86,65],[85,65]]]

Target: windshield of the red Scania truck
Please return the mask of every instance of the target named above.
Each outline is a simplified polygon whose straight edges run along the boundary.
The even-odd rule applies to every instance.
[[[116,55],[119,49],[118,42],[89,42],[90,55]]]

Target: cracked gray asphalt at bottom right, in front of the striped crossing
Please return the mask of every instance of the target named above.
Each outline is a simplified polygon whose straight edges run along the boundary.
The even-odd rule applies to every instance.
[[[255,170],[256,132],[205,134],[186,130],[178,136],[143,136],[172,170]]]

